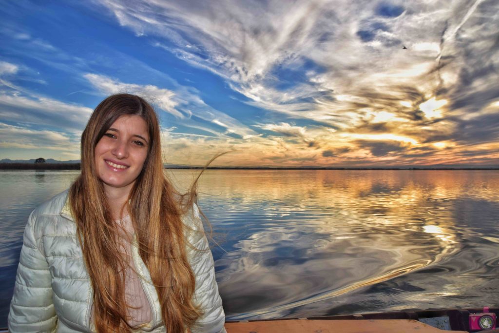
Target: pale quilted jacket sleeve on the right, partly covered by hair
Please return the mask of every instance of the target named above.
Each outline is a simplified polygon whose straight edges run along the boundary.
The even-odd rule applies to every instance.
[[[196,205],[193,207],[193,217],[194,232],[190,233],[188,241],[194,248],[190,250],[191,265],[196,275],[194,298],[197,304],[201,305],[204,315],[198,319],[191,331],[192,333],[226,333],[225,313],[215,280],[213,256]]]

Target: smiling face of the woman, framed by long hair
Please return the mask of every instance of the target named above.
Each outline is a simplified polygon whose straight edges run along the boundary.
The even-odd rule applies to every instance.
[[[141,116],[123,115],[116,119],[95,146],[95,167],[106,190],[128,192],[147,158],[149,134]]]

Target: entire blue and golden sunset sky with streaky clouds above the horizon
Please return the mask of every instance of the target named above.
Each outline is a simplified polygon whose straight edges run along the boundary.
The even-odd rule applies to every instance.
[[[499,166],[497,0],[6,0],[0,159],[144,96],[165,163]]]

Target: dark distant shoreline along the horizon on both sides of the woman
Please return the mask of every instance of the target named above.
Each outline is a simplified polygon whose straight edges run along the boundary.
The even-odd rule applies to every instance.
[[[0,163],[3,170],[79,170],[80,163]],[[165,169],[202,170],[199,166],[167,166]],[[499,168],[445,168],[445,167],[390,167],[390,168],[338,168],[338,167],[208,167],[209,170],[499,170]]]

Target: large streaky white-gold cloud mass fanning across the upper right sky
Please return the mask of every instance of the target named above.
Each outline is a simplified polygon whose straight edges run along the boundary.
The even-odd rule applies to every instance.
[[[251,105],[340,131],[388,112],[387,131],[451,140],[457,118],[499,98],[494,1],[101,4]],[[448,102],[437,119],[419,108],[431,98]]]

